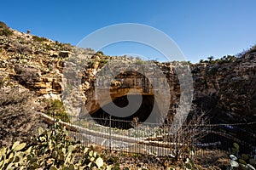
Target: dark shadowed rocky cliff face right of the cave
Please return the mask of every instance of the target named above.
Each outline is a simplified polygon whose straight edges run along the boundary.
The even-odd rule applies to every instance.
[[[252,122],[256,119],[256,53],[221,65],[195,65],[195,103],[225,122]]]

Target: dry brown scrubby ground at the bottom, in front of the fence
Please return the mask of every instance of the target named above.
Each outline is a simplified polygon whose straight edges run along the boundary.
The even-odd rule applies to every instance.
[[[184,160],[180,159],[176,161],[174,158],[169,156],[146,156],[119,152],[108,152],[106,156],[107,163],[115,167],[114,169],[185,169]],[[222,170],[227,169],[230,165],[228,156],[220,150],[204,150],[203,154],[194,156],[193,160],[195,167],[202,170]]]

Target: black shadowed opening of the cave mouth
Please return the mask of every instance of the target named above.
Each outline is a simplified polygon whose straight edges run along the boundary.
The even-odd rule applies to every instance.
[[[158,105],[154,102],[154,95],[142,96],[142,105],[140,105],[139,109],[131,116],[111,116],[111,113],[109,114],[103,111],[102,108],[100,108],[98,111],[91,114],[91,117],[94,119],[95,122],[105,127],[116,127],[119,129],[130,129],[136,127],[140,122],[145,122],[148,119],[148,116],[150,116],[154,107],[156,107],[157,111],[159,111]],[[127,95],[113,99],[113,103],[119,107],[125,107],[126,105],[128,105]]]

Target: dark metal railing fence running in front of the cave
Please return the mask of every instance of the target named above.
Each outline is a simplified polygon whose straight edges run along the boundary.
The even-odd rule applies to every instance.
[[[98,145],[106,150],[175,156],[188,148],[198,150],[198,154],[207,153],[203,150],[229,152],[233,143],[240,144],[244,153],[256,148],[256,133],[253,132],[256,122],[183,126],[177,133],[170,134],[169,125],[117,120],[111,116],[97,118],[52,114],[47,118],[52,123],[60,119],[82,144]]]

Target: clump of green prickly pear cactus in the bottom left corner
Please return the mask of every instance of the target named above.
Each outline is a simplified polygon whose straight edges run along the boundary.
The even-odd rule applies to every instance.
[[[38,129],[29,144],[15,142],[0,150],[0,169],[109,169],[92,147],[68,136],[58,122],[49,130]]]

